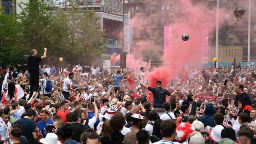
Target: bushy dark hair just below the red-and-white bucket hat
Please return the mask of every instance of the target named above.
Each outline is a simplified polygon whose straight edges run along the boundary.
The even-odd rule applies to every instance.
[[[120,131],[124,127],[125,118],[122,113],[117,113],[110,118],[110,126],[114,131]]]

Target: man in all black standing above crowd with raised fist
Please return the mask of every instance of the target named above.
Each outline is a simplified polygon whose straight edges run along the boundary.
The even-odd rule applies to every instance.
[[[29,85],[30,97],[33,95],[34,91],[38,91],[39,87],[39,62],[42,61],[42,58],[46,58],[47,48],[44,48],[44,55],[41,57],[37,56],[37,51],[35,49],[31,50],[32,54],[28,57],[28,72],[30,75]]]

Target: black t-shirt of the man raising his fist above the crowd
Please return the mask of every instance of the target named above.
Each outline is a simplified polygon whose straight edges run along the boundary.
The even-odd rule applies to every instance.
[[[41,62],[41,57],[29,56],[28,57],[28,72],[32,74],[39,74],[39,62]]]

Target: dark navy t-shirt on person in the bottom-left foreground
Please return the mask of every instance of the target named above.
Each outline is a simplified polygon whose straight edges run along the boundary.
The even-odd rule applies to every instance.
[[[25,136],[28,140],[28,143],[32,144],[34,140],[32,132],[36,132],[36,123],[28,118],[21,118],[16,120],[14,123],[20,124],[22,126],[22,136]]]

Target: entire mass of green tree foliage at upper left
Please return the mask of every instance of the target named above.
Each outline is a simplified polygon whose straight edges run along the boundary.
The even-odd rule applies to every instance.
[[[91,64],[104,52],[104,31],[93,10],[47,8],[38,1],[24,4],[19,16],[0,14],[0,65],[25,61],[31,49],[48,48],[45,62]],[[98,59],[100,60],[100,59]]]

